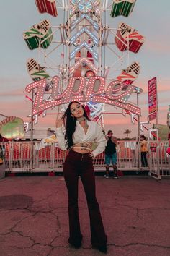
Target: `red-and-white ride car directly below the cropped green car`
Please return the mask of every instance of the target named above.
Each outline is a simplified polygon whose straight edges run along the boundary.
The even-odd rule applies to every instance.
[[[135,28],[121,22],[119,24],[117,34],[115,37],[115,43],[120,51],[132,51],[133,53],[138,53],[140,47],[143,45],[145,38],[140,35]]]

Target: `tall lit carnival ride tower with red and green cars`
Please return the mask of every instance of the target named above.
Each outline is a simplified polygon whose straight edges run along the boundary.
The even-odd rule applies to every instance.
[[[117,80],[124,86],[121,87],[118,84],[118,88],[121,90],[114,89],[115,95],[126,93],[129,85],[133,84],[140,73],[138,61],[133,61],[130,64],[130,52],[137,54],[145,38],[125,22],[121,22],[117,28],[112,28],[108,23],[112,23],[112,18],[119,15],[128,17],[133,12],[135,2],[136,0],[35,0],[40,13],[47,12],[60,22],[63,17],[63,23],[58,26],[51,25],[51,22],[45,19],[23,33],[28,48],[38,51],[37,60],[34,58],[27,60],[30,77],[34,82],[47,79],[46,95],[43,102],[50,102],[53,99],[50,89],[53,89],[54,86],[54,76],[60,78],[58,94],[66,90],[71,77],[85,77],[87,84],[91,77],[104,77],[105,87],[110,85],[110,81]],[[50,16],[48,15],[48,17]],[[112,54],[112,59],[110,54]],[[79,88],[79,79],[75,81],[75,88]],[[75,88],[74,90],[78,90]],[[91,93],[97,92],[98,88],[99,82],[96,80]],[[85,86],[84,91],[87,90],[89,87]],[[29,92],[27,88],[26,92]],[[133,90],[133,93],[141,92],[142,90],[138,87]],[[32,97],[32,102],[34,102],[34,94]],[[130,95],[126,95],[126,99],[123,98],[125,103],[129,97]],[[79,99],[78,96],[76,98]],[[120,101],[118,96],[117,99]],[[57,105],[55,112],[58,114],[62,113],[67,106],[64,103]],[[87,101],[84,102],[84,105],[89,111],[91,119],[98,121],[104,127],[104,103]],[[33,119],[36,122],[37,116],[40,114],[45,116],[48,114],[47,111],[54,108],[50,104],[49,108],[47,106],[46,104],[46,110],[42,109],[38,114],[34,114]]]

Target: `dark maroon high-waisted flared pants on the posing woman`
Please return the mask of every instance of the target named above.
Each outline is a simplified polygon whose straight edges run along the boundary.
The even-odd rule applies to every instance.
[[[102,217],[95,192],[95,177],[92,158],[88,154],[81,154],[70,150],[63,166],[63,175],[68,189],[68,216],[69,239],[68,242],[81,241],[81,229],[78,210],[78,180],[81,181],[86,194],[89,209],[91,244],[94,246],[107,243]]]

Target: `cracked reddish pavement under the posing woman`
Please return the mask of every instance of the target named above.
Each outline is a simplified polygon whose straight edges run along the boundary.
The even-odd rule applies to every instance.
[[[108,236],[107,255],[170,255],[170,179],[96,176],[97,200]],[[79,180],[83,242],[68,245],[68,197],[63,176],[0,180],[0,256],[103,255],[91,249],[89,214]]]

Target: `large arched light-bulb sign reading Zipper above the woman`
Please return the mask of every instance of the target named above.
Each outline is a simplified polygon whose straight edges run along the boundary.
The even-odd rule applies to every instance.
[[[58,76],[53,77],[53,88],[50,100],[48,101],[43,100],[46,87],[45,79],[27,85],[25,88],[27,93],[37,88],[32,109],[33,115],[54,106],[70,103],[71,101],[93,101],[95,103],[107,103],[117,106],[140,116],[140,108],[131,102],[128,103],[132,93],[142,93],[143,91],[134,85],[128,85],[124,90],[123,83],[119,80],[114,80],[106,88],[104,77],[90,77],[89,82],[86,82],[85,77],[71,77],[67,88],[62,93],[58,93],[59,80]]]

